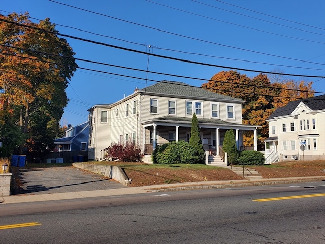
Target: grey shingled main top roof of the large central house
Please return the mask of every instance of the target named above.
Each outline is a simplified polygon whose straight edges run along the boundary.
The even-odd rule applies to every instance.
[[[222,100],[232,100],[233,102],[244,102],[243,100],[238,98],[233,98],[219,93],[210,92],[209,90],[200,87],[195,87],[195,86],[185,84],[183,82],[176,82],[176,81],[165,81],[165,80],[160,81],[147,88],[140,89],[140,91],[146,93],[155,93],[155,94],[208,98],[208,99],[222,99]]]

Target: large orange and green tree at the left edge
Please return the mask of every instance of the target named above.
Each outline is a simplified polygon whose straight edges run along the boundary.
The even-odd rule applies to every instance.
[[[28,17],[0,15],[0,98],[25,135],[20,153],[23,147],[42,152],[52,147],[77,68],[75,53],[55,25]]]

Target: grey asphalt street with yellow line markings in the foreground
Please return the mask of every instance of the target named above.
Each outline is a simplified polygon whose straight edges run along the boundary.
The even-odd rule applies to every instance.
[[[325,243],[325,185],[320,183],[24,203],[14,206],[37,209],[8,216],[1,212],[11,206],[4,205],[1,241]],[[31,224],[22,227],[26,223]],[[10,224],[19,228],[1,229]]]

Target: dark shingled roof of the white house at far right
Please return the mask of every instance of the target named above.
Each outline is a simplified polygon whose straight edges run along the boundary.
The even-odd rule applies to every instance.
[[[274,117],[290,115],[298,106],[300,102],[303,102],[307,107],[313,111],[325,109],[325,95],[320,95],[308,99],[298,99],[295,101],[289,102],[287,105],[281,108],[277,108],[268,119]]]

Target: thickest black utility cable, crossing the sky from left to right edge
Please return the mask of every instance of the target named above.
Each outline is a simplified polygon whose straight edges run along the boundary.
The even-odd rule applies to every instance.
[[[52,0],[50,0],[50,1],[52,1]],[[223,69],[234,69],[234,70],[243,70],[243,71],[249,71],[249,72],[266,73],[266,74],[287,75],[287,76],[296,76],[296,77],[325,78],[325,76],[283,74],[283,73],[278,73],[278,72],[251,70],[251,69],[244,69],[244,68],[238,68],[238,67],[236,68],[236,67],[230,67],[230,66],[221,66],[221,65],[214,65],[214,64],[207,64],[207,63],[202,63],[202,62],[196,62],[196,61],[192,61],[192,60],[186,60],[186,59],[182,59],[182,58],[175,58],[175,57],[170,57],[170,56],[158,55],[158,54],[153,54],[153,53],[148,54],[147,52],[143,52],[143,51],[139,51],[139,50],[135,50],[135,49],[120,47],[120,46],[111,45],[111,44],[107,44],[107,43],[103,43],[103,42],[98,42],[98,41],[93,41],[93,40],[84,39],[84,38],[80,38],[80,37],[75,37],[75,36],[71,36],[71,35],[67,35],[67,34],[61,34],[61,33],[58,33],[58,32],[52,32],[52,31],[48,31],[46,29],[41,29],[41,28],[37,28],[37,27],[34,27],[34,26],[28,26],[28,25],[25,25],[25,24],[12,22],[12,21],[5,20],[5,19],[0,19],[0,21],[4,21],[4,22],[7,22],[7,23],[11,23],[11,24],[15,24],[15,25],[19,25],[19,26],[23,26],[23,27],[27,27],[27,28],[32,28],[32,29],[36,29],[38,31],[43,31],[43,32],[46,32],[46,33],[51,33],[51,34],[54,34],[54,35],[68,37],[68,38],[72,38],[72,39],[76,39],[76,40],[80,40],[80,41],[85,41],[85,42],[99,44],[99,45],[112,47],[112,48],[116,48],[116,49],[120,49],[120,50],[131,51],[131,52],[136,52],[136,53],[145,54],[145,55],[151,55],[151,56],[165,58],[165,59],[175,60],[175,61],[179,61],[179,62],[185,62],[185,63],[191,63],[191,64],[197,64],[197,65],[204,65],[204,66],[210,66],[210,67],[218,67],[218,68],[223,68]],[[294,59],[294,60],[299,60],[299,59]],[[299,60],[299,61],[302,61],[302,60]],[[308,63],[314,63],[314,62],[308,62]],[[319,64],[319,63],[316,63],[316,64]],[[325,64],[321,64],[321,65],[325,65]]]

